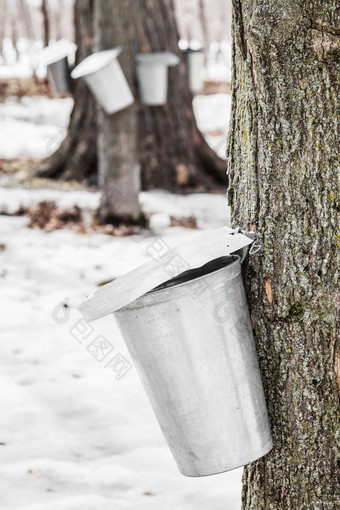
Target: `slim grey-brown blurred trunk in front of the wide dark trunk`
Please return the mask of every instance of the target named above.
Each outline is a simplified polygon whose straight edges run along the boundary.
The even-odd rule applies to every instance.
[[[97,0],[94,6],[95,49],[123,46],[119,62],[130,86],[134,76],[134,7],[135,0]],[[136,220],[141,214],[136,108],[133,105],[108,115],[98,106],[98,114],[99,214],[108,222]]]

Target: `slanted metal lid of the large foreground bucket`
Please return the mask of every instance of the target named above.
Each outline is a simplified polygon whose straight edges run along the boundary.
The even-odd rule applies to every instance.
[[[171,278],[230,255],[252,242],[246,235],[235,233],[228,227],[208,230],[193,240],[177,245],[163,257],[151,260],[108,283],[83,301],[79,310],[86,321],[100,319],[124,308]]]

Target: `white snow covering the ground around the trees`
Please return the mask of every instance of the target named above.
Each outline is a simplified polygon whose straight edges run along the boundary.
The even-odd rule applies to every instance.
[[[218,106],[203,107],[205,101],[198,98],[195,106],[201,104],[201,126],[221,129]],[[71,107],[69,100],[45,98],[0,105],[0,157],[45,156],[46,146],[60,143]],[[0,190],[0,209],[8,212],[41,200],[93,210],[99,195]],[[156,219],[195,216],[201,229],[229,224],[223,195],[153,191],[141,193],[140,201]],[[103,335],[112,356],[131,362],[113,317],[81,332],[76,311],[99,284],[147,261],[156,238],[172,247],[197,230],[155,221],[153,233],[118,238],[68,229],[47,234],[26,224],[26,217],[0,215],[0,508],[239,510],[241,470],[182,476],[134,368],[120,379],[96,359],[91,343]]]

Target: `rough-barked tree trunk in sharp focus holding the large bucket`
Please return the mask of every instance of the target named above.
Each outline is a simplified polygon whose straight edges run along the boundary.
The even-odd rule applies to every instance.
[[[272,423],[243,509],[340,508],[338,0],[234,0],[233,225]],[[339,329],[338,329],[339,331]]]

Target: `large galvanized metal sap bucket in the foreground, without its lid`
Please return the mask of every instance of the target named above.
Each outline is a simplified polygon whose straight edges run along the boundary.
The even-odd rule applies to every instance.
[[[238,257],[189,270],[114,317],[184,475],[229,471],[270,451]]]

